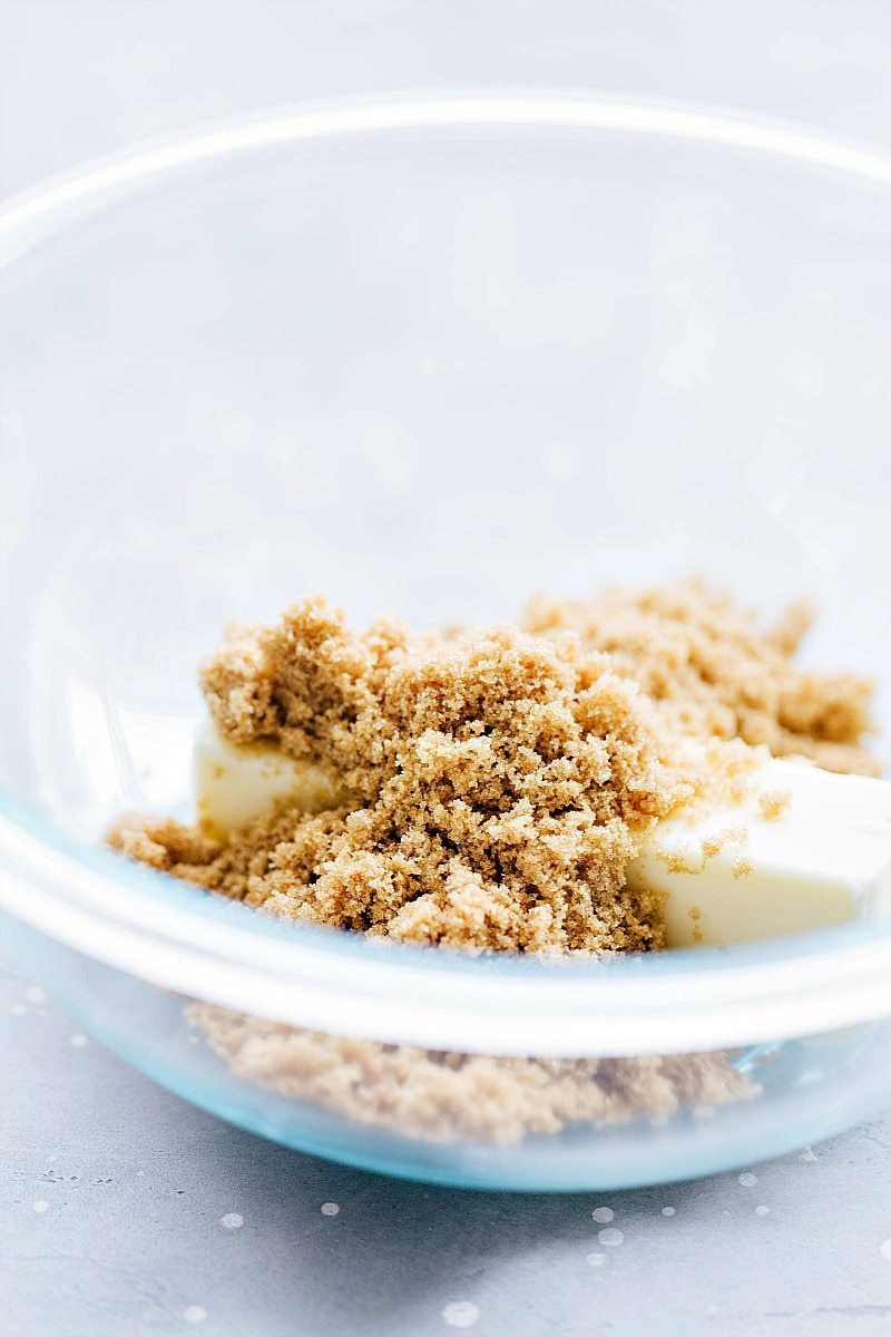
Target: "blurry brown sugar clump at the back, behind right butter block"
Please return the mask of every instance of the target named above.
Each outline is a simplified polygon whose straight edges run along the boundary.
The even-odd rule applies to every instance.
[[[807,604],[759,632],[753,618],[700,580],[653,590],[605,590],[589,602],[536,599],[525,626],[572,631],[635,682],[668,733],[741,738],[773,757],[810,757],[826,770],[875,775],[863,743],[872,685],[856,674],[812,673],[793,655],[810,627]]]

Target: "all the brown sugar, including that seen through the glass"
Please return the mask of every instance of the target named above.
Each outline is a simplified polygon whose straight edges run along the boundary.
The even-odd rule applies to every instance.
[[[736,793],[753,745],[876,770],[870,685],[799,668],[808,624],[799,604],[759,632],[697,582],[540,598],[521,628],[478,635],[391,620],[354,632],[307,599],[277,627],[231,628],[202,685],[224,738],[323,767],[338,805],[279,806],[227,838],[128,817],[110,842],[298,921],[477,952],[657,949],[659,900],[625,884],[652,824],[716,786]],[[764,816],[785,801],[764,796]],[[188,1015],[236,1075],[439,1140],[510,1142],[757,1091],[723,1054],[488,1058],[203,1003]]]

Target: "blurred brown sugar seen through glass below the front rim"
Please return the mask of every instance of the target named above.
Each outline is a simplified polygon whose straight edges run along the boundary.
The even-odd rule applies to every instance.
[[[210,1003],[187,1013],[236,1076],[431,1142],[509,1144],[570,1123],[665,1116],[759,1092],[723,1054],[490,1058],[319,1035]]]

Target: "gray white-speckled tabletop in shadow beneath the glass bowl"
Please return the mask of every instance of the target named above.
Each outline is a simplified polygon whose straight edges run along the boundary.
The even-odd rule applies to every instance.
[[[480,1337],[891,1332],[891,1116],[756,1183],[462,1193],[286,1151],[83,1039],[0,977],[3,1337],[426,1337],[462,1304]]]

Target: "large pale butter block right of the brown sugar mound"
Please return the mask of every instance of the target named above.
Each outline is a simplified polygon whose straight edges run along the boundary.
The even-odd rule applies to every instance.
[[[628,881],[664,896],[668,947],[891,917],[891,783],[765,761],[744,802],[660,822]]]

